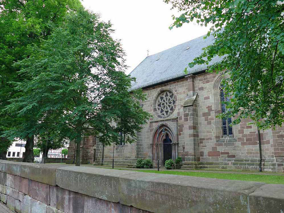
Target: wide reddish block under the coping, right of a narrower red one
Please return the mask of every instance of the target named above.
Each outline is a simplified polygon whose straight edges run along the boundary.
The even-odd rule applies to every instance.
[[[49,185],[34,180],[30,182],[30,196],[47,205],[50,204]]]

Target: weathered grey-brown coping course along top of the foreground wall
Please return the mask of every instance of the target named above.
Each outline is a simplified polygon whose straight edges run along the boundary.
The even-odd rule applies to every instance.
[[[284,211],[282,184],[3,160],[0,172],[150,212]]]

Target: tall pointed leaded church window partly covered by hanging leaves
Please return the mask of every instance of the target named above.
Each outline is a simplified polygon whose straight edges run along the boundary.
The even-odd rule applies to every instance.
[[[221,112],[225,113],[227,111],[226,104],[223,101],[230,101],[228,97],[226,97],[223,85],[219,85],[219,94],[220,94],[220,104],[221,104]],[[222,119],[222,131],[223,135],[233,135],[233,128],[231,127],[232,118],[223,118]]]

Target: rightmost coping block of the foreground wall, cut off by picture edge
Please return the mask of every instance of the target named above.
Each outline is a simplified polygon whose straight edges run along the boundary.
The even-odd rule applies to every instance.
[[[283,212],[284,185],[266,184],[250,194],[250,212]]]

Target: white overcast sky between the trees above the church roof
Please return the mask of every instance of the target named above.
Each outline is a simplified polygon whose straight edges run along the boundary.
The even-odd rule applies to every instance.
[[[121,39],[127,54],[127,74],[147,57],[147,49],[149,55],[159,53],[209,30],[192,22],[169,30],[172,15],[177,13],[163,0],[83,0],[82,4],[101,14],[101,20],[111,21],[116,30],[113,37]]]

